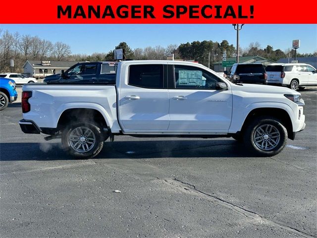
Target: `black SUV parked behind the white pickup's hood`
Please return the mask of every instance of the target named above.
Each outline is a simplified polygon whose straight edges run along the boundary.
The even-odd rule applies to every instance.
[[[267,74],[261,63],[234,63],[227,74],[227,79],[233,83],[266,84]]]

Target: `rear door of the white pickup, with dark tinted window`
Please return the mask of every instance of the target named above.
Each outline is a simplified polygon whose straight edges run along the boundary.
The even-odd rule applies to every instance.
[[[166,131],[169,125],[166,64],[124,64],[118,72],[118,119],[125,133]],[[121,74],[121,75],[120,75]],[[164,80],[165,79],[165,80]]]

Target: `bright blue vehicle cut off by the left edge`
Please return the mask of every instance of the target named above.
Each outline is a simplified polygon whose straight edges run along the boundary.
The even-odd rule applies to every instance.
[[[17,97],[14,80],[0,78],[0,111],[4,110],[9,103],[13,103]]]

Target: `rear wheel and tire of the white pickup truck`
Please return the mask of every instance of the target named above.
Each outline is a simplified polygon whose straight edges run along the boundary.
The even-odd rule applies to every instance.
[[[81,131],[79,128],[81,128]],[[83,134],[80,134],[81,132]],[[92,137],[86,137],[85,134]],[[76,137],[76,135],[78,136]],[[77,145],[75,145],[76,141],[78,142]],[[63,149],[75,159],[94,158],[103,149],[104,141],[104,135],[99,125],[87,122],[75,122],[66,126],[61,137]]]

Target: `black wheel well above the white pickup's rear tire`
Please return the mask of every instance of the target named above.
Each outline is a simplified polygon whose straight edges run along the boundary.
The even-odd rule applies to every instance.
[[[62,130],[70,121],[96,122],[102,127],[106,127],[106,120],[103,115],[95,109],[75,108],[65,110],[59,117],[57,128]]]

